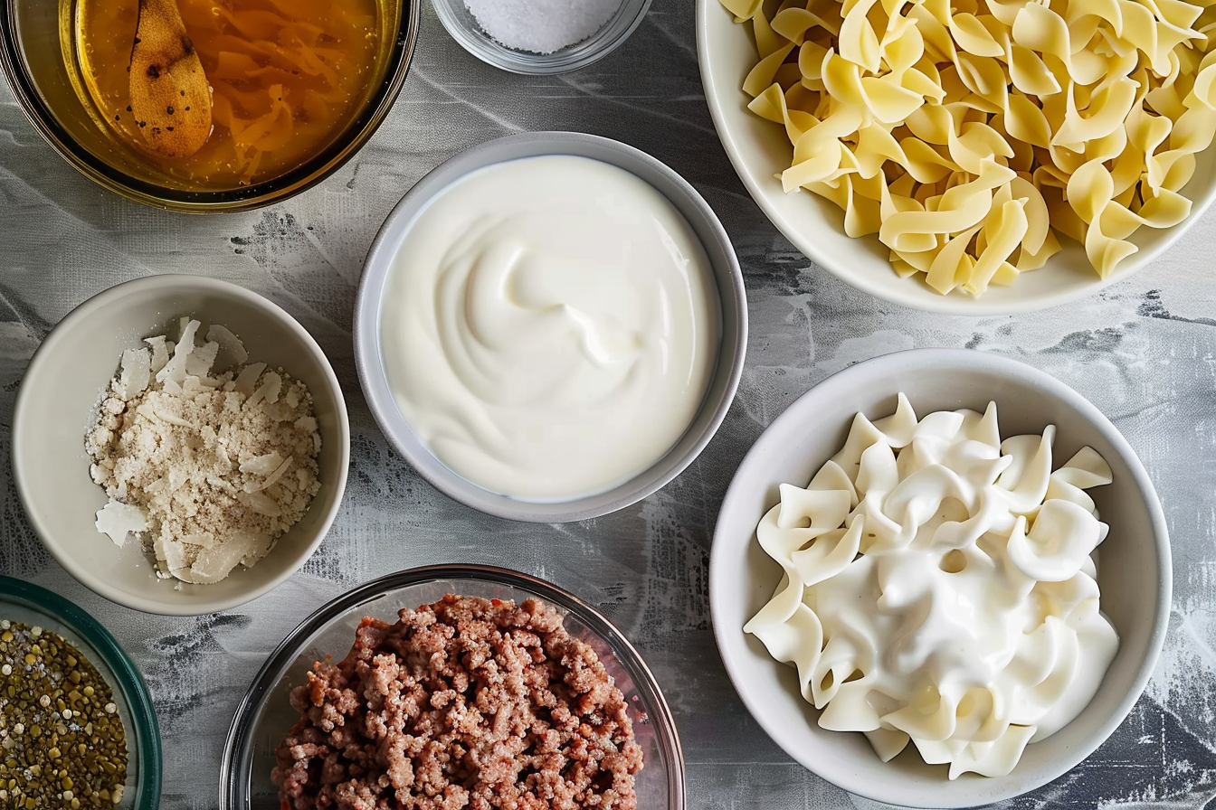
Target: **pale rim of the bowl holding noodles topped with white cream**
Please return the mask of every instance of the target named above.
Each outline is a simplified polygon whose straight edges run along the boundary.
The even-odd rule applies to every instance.
[[[1165,635],[1170,623],[1170,600],[1173,588],[1172,570],[1170,567],[1171,555],[1169,528],[1165,522],[1165,514],[1162,512],[1161,504],[1156,498],[1156,491],[1153,487],[1153,482],[1149,478],[1148,472],[1144,470],[1144,465],[1136,455],[1136,452],[1132,449],[1131,444],[1127,443],[1127,440],[1124,438],[1124,435],[1119,432],[1119,429],[1115,427],[1093,403],[1046,372],[1019,361],[989,352],[969,349],[911,349],[862,361],[832,374],[812,386],[806,393],[792,402],[789,407],[787,407],[786,410],[783,410],[770,424],[770,426],[765,429],[765,434],[772,427],[784,425],[786,423],[804,425],[807,421],[812,421],[816,400],[823,396],[823,392],[828,387],[843,387],[844,390],[849,390],[854,378],[861,380],[873,375],[876,369],[894,370],[896,368],[905,370],[956,369],[961,372],[992,372],[1009,379],[1026,383],[1028,385],[1046,390],[1048,393],[1054,395],[1065,404],[1080,413],[1091,425],[1093,425],[1094,430],[1109,441],[1116,452],[1122,457],[1122,460],[1127,464],[1127,469],[1132,474],[1136,489],[1144,493],[1144,506],[1148,512],[1149,521],[1153,525],[1153,540],[1156,557],[1159,560],[1158,595],[1155,604],[1152,606],[1155,611],[1155,616],[1153,621],[1148,655],[1145,655],[1144,659],[1141,661],[1136,668],[1136,678],[1132,689],[1130,689],[1119,702],[1118,709],[1103,720],[1103,723],[1094,730],[1093,735],[1086,738],[1086,743],[1083,746],[1070,750],[1069,757],[1059,760],[1058,767],[1054,770],[1043,772],[1038,775],[1037,778],[1029,778],[1021,782],[1017,792],[1004,797],[1004,799],[1012,799],[1015,795],[1021,795],[1023,793],[1028,793],[1055,778],[1059,778],[1075,765],[1080,764],[1086,757],[1097,750],[1098,746],[1105,742],[1105,740],[1114,733],[1115,729],[1122,724],[1124,719],[1131,713],[1136,702],[1139,699],[1144,687],[1148,685],[1149,678],[1153,674],[1153,668],[1155,667],[1161,653],[1161,647],[1165,644]],[[738,471],[731,480],[726,495],[722,498],[722,506],[719,510],[719,514],[725,512],[732,500],[742,497],[741,493],[747,488],[747,483],[741,478],[739,472],[745,472],[748,468],[755,465],[764,458],[767,451],[764,438],[765,436],[761,434],[760,438],[756,440],[755,444],[753,444],[751,449],[748,451],[747,455],[744,455],[743,460],[739,463]],[[714,616],[714,608],[717,605],[715,593],[725,594],[728,590],[727,584],[730,582],[728,572],[722,570],[725,563],[721,561],[725,557],[725,553],[715,554],[715,551],[725,549],[734,543],[738,543],[738,538],[724,537],[719,533],[717,527],[715,527],[709,561],[709,604],[714,625],[714,640],[717,642],[717,648],[722,657],[722,664],[726,667],[726,673],[731,678],[731,684],[734,686],[734,691],[739,695],[744,706],[747,706],[748,712],[753,718],[755,718],[756,723],[759,723],[760,726],[765,729],[765,732],[769,733],[776,742],[776,736],[772,735],[769,724],[764,720],[764,712],[759,699],[754,695],[754,689],[747,682],[741,682],[738,675],[732,668],[731,662],[734,655],[732,650],[736,646],[736,639],[731,636],[742,635],[743,631],[737,627],[724,627],[720,618]],[[812,770],[822,778],[848,791],[849,793],[855,793],[876,801],[893,800],[890,794],[882,794],[880,784],[876,787],[874,782],[865,780],[841,780],[838,775],[811,767],[811,765],[801,760],[793,752],[787,750],[787,753],[790,754],[790,757],[799,759],[799,761],[801,761],[801,764],[809,770]],[[970,804],[925,804],[923,801],[916,801],[912,795],[901,799],[900,804],[903,806],[916,808],[972,806]]]

